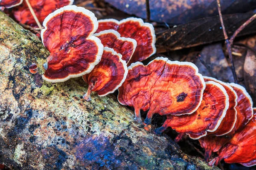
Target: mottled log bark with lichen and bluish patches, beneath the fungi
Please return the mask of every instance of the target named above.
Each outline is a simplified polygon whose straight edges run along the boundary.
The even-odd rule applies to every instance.
[[[49,52],[0,12],[0,164],[12,169],[218,169],[182,153],[167,136],[133,121],[116,97],[92,94],[81,78],[43,81]],[[29,65],[38,65],[31,74]]]

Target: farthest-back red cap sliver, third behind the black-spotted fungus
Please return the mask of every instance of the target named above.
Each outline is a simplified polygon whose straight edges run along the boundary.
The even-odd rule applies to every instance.
[[[237,98],[237,118],[234,130],[237,131],[244,127],[250,119],[253,117],[253,100],[250,95],[247,93],[245,88],[236,83],[228,83],[238,96]]]

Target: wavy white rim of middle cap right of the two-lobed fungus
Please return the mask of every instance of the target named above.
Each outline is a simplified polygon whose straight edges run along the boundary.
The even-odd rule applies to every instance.
[[[115,30],[113,30],[113,29],[108,29],[108,30],[100,31],[99,33],[93,34],[93,36],[99,37],[99,36],[101,36],[101,35],[103,35],[103,34],[114,34],[114,35],[116,36],[117,40],[128,41],[128,42],[131,42],[131,43],[133,44],[133,52],[132,52],[132,54],[131,54],[131,56],[130,56],[130,58],[129,58],[129,60],[128,60],[128,62],[129,62],[130,59],[131,59],[131,57],[132,57],[133,54],[134,54],[134,51],[135,51],[136,47],[137,47],[137,41],[134,40],[134,39],[131,39],[131,38],[121,37],[121,35],[119,34],[119,32],[117,32],[117,31],[115,31]],[[122,54],[121,54],[121,55],[122,55]],[[128,62],[127,62],[127,63],[128,63]]]

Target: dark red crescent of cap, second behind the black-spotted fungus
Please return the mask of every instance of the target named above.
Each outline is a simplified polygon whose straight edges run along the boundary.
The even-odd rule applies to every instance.
[[[208,135],[222,136],[227,133],[230,133],[236,124],[236,115],[237,115],[236,106],[237,106],[237,98],[238,98],[236,91],[234,91],[233,88],[227,83],[221,82],[220,80],[217,80],[212,77],[204,77],[204,81],[205,82],[214,81],[221,84],[227,91],[227,95],[229,98],[229,107],[227,109],[226,116],[224,117],[218,129],[215,130],[214,132],[208,133]]]

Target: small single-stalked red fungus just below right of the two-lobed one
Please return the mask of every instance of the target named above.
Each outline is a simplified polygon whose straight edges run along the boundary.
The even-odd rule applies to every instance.
[[[122,55],[117,54],[112,48],[104,47],[99,64],[83,76],[84,81],[89,84],[84,99],[90,100],[91,91],[95,91],[99,96],[106,96],[122,85],[128,70],[126,62],[121,58]]]

